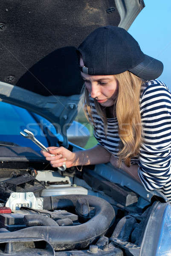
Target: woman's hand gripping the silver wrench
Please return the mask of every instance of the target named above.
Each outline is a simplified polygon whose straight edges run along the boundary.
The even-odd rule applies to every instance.
[[[52,167],[59,167],[63,164],[65,164],[67,168],[74,166],[75,154],[67,148],[49,147],[48,149],[51,154],[43,150],[41,150],[41,154],[46,157],[47,161],[50,161]]]

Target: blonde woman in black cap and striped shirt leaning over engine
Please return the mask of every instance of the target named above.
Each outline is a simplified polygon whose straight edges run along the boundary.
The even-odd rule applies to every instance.
[[[171,200],[171,93],[155,80],[162,62],[114,26],[93,31],[78,52],[84,110],[99,144],[77,152],[50,147],[52,154],[42,154],[53,167],[110,162]]]

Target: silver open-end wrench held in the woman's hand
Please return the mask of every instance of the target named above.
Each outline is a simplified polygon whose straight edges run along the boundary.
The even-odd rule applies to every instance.
[[[46,152],[51,154],[51,152],[48,150],[48,148],[46,148],[40,141],[38,141],[31,131],[29,131],[27,129],[24,129],[24,131],[20,131],[20,134],[23,137],[25,137],[25,138],[27,138],[29,140],[32,140],[32,142],[34,142],[36,145],[38,145],[38,147],[40,147],[43,151],[46,151]],[[58,169],[61,172],[64,172],[66,170],[66,165],[63,164],[63,166],[58,167]]]

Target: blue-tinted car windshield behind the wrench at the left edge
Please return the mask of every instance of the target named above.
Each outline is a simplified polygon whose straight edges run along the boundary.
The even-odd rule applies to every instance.
[[[25,128],[32,131],[35,137],[48,147],[45,134],[31,113],[26,109],[0,102],[0,142],[12,142],[40,151],[35,143],[20,135],[20,131]]]

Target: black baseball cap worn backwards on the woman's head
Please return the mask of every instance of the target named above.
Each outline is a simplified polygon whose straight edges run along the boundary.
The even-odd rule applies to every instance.
[[[145,80],[159,77],[163,71],[161,61],[145,55],[137,41],[116,26],[99,27],[78,47],[84,61],[80,66],[88,75],[115,75],[129,70]]]

